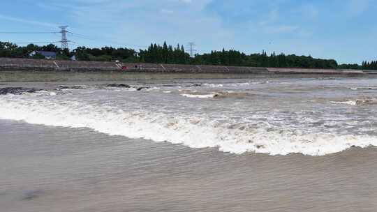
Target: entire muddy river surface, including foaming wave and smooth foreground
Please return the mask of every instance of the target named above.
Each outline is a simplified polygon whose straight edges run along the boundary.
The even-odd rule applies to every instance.
[[[28,84],[0,96],[0,211],[376,211],[376,82]]]

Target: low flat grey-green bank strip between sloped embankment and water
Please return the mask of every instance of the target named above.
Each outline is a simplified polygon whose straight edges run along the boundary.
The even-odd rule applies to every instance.
[[[0,82],[94,82],[151,79],[253,79],[281,77],[377,77],[377,75],[344,74],[247,74],[247,73],[140,73],[120,71],[62,72],[57,70],[6,70],[0,71]]]

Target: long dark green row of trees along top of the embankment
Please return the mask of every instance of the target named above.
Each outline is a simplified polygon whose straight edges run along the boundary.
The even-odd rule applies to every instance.
[[[152,43],[147,50],[136,52],[128,48],[87,48],[77,47],[72,51],[61,50],[56,45],[49,44],[38,46],[29,44],[17,46],[13,43],[0,42],[0,57],[30,57],[29,53],[41,50],[57,52],[57,59],[71,59],[75,56],[80,61],[123,61],[145,63],[176,63],[195,65],[219,65],[219,66],[253,66],[253,67],[276,67],[276,68],[345,68],[377,70],[377,61],[363,62],[358,64],[341,64],[333,59],[315,59],[311,56],[297,56],[295,54],[267,55],[266,52],[259,54],[244,54],[236,50],[212,51],[206,54],[195,54],[193,58],[185,52],[183,45],[157,45]],[[34,56],[40,58],[40,55]]]

